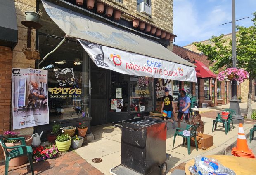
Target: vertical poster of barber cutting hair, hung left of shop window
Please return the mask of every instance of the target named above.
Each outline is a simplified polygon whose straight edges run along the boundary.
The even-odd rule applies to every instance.
[[[12,68],[13,129],[49,124],[47,71]]]

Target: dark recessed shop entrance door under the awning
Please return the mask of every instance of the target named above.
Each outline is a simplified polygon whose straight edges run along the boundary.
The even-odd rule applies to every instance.
[[[104,69],[91,69],[91,125],[106,124],[108,122],[108,72]]]

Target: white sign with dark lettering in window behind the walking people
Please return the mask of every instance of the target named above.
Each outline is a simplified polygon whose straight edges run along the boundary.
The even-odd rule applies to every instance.
[[[156,98],[159,99],[161,97],[164,97],[166,88],[168,88],[169,94],[171,95],[172,94],[171,87],[172,87],[171,80],[159,78],[156,83]]]

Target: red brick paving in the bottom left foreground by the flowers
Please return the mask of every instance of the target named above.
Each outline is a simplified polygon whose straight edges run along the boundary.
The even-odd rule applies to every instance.
[[[59,152],[55,159],[33,162],[35,175],[104,175],[76,152]],[[0,163],[0,175],[5,174],[5,162]],[[9,167],[9,175],[31,174],[29,163]]]

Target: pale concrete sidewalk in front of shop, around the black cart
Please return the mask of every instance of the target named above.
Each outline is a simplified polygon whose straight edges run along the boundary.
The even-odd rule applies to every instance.
[[[168,171],[180,163],[186,162],[199,154],[228,154],[231,148],[235,146],[239,126],[234,124],[234,129],[231,129],[227,135],[225,135],[225,129],[221,127],[221,124],[218,125],[216,131],[211,132],[213,118],[215,118],[218,110],[215,108],[206,109],[207,111],[200,109],[200,113],[202,111],[201,117],[202,121],[204,122],[204,134],[213,136],[213,146],[207,150],[199,149],[198,151],[195,149],[195,147],[191,147],[191,154],[188,155],[187,146],[182,146],[182,137],[177,136],[174,149],[172,150],[175,129],[169,129],[167,131],[166,152],[171,154],[171,158],[166,161]],[[255,123],[245,123],[243,125],[245,134],[247,136],[249,134],[249,129],[251,129],[253,124]],[[168,122],[168,125],[169,128],[172,128],[170,122]],[[185,128],[185,126],[185,122],[181,123],[181,127]],[[92,133],[95,136],[95,140],[92,140],[92,142],[88,143],[88,145],[85,147],[78,148],[76,152],[88,163],[91,163],[92,166],[99,169],[102,173],[110,174],[109,170],[119,165],[121,162],[121,129],[113,127],[111,124],[105,124],[92,127]],[[103,161],[100,163],[93,163],[92,159],[96,157],[100,157]],[[159,173],[159,168],[156,168],[152,174],[157,173]]]

